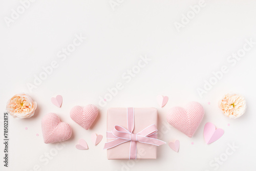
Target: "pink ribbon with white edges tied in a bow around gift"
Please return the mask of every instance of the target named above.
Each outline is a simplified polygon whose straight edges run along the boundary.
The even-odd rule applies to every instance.
[[[127,108],[127,127],[115,125],[111,132],[106,132],[106,138],[114,139],[113,141],[106,142],[104,149],[113,148],[125,142],[131,141],[130,145],[130,157],[129,159],[137,159],[137,144],[136,142],[152,144],[152,145],[162,145],[165,144],[164,141],[157,139],[157,127],[155,124],[147,126],[141,132],[133,134],[134,130],[134,109]]]

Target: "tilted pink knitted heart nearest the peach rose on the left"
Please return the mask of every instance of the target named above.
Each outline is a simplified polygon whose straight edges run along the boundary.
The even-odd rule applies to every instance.
[[[60,122],[58,115],[49,113],[41,120],[42,137],[44,142],[54,143],[68,140],[72,135],[71,126],[68,123]]]

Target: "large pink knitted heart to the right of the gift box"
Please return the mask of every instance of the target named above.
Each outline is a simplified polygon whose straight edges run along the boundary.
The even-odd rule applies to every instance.
[[[188,137],[193,137],[204,117],[203,106],[196,101],[189,102],[185,108],[174,107],[169,110],[167,122]]]

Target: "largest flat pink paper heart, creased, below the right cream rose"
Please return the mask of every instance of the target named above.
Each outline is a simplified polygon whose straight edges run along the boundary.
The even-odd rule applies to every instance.
[[[224,134],[224,130],[216,129],[215,125],[207,122],[204,125],[204,139],[207,144],[217,141]]]

